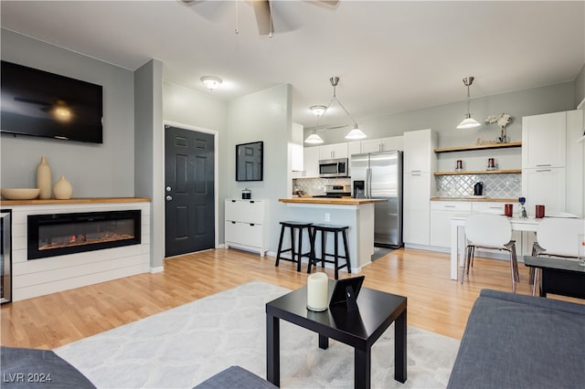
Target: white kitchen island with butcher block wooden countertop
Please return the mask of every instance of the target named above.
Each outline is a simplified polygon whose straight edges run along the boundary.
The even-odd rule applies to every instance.
[[[279,199],[279,202],[287,205],[290,211],[287,212],[287,220],[349,226],[347,245],[352,273],[359,273],[361,268],[371,262],[372,254],[374,254],[374,204],[386,201],[386,199],[351,197]],[[327,240],[327,252],[333,252],[333,243],[333,238]],[[303,247],[309,247],[308,245],[309,241],[304,237]]]

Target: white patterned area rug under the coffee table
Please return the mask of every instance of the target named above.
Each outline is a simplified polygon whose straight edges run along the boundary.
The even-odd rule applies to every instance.
[[[266,377],[265,304],[288,289],[254,281],[55,350],[99,388],[189,388],[240,365]],[[394,381],[394,326],[372,348],[372,387],[445,387],[459,341],[408,327],[408,380]],[[281,321],[282,387],[354,387],[354,351]]]

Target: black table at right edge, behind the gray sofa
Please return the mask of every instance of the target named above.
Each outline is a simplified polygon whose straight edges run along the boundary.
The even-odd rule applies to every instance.
[[[579,265],[578,259],[525,256],[524,264],[529,268],[540,268],[540,297],[554,293],[585,299],[585,267]],[[535,274],[532,295],[536,294]]]

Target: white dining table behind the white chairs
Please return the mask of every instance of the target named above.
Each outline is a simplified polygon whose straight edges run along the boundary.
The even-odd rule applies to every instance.
[[[451,279],[459,279],[458,268],[463,266],[465,260],[465,216],[452,216],[451,218]],[[541,219],[533,217],[520,218],[508,217],[513,231],[537,231]],[[458,260],[459,258],[459,260]]]

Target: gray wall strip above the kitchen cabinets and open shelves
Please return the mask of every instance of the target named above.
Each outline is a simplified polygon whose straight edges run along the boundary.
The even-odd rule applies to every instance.
[[[477,138],[494,140],[499,136],[497,124],[486,125],[485,118],[496,113],[508,113],[512,121],[506,127],[506,135],[512,142],[522,137],[522,117],[540,113],[573,110],[579,103],[575,101],[575,83],[566,82],[547,87],[516,90],[494,96],[473,98],[471,103],[472,117],[480,121],[478,129],[456,130],[455,127],[463,120],[466,112],[464,100],[436,107],[407,112],[390,113],[370,118],[357,118],[360,128],[370,139],[401,135],[405,131],[431,128],[439,132],[439,147],[463,146],[475,144]],[[351,112],[351,107],[348,108]],[[309,136],[313,128],[304,129],[304,137]],[[324,143],[346,142],[344,138],[347,128],[320,131]]]

